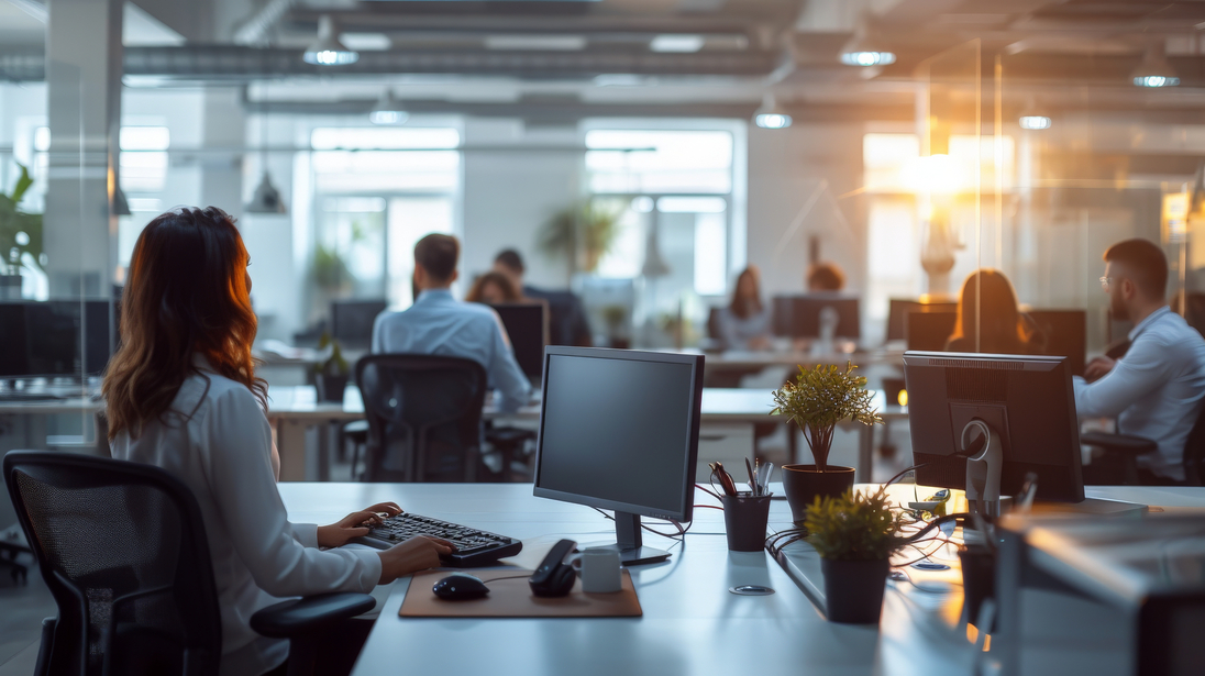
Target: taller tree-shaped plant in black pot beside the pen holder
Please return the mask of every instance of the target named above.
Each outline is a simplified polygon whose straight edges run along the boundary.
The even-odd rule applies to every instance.
[[[833,433],[837,423],[881,424],[878,411],[870,406],[866,378],[856,376],[853,363],[845,370],[818,364],[812,370],[799,366],[794,381],[787,381],[774,393],[772,416],[787,416],[799,425],[812,452],[812,465],[783,465],[782,488],[797,524],[817,496],[839,496],[853,487],[853,468],[828,464]]]

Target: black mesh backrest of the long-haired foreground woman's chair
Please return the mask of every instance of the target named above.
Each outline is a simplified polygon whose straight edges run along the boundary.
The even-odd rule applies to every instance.
[[[217,674],[217,588],[187,486],[71,453],[13,451],[4,475],[59,609],[49,674]]]

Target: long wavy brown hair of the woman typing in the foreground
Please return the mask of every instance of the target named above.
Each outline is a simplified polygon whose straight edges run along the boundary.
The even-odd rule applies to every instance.
[[[213,206],[169,211],[142,230],[122,294],[122,346],[102,386],[110,440],[122,431],[136,439],[159,419],[200,372],[194,355],[266,406],[268,383],[251,357],[247,261],[234,219]]]

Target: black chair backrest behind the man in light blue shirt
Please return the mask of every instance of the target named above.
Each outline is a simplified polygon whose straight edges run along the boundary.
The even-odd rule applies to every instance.
[[[368,481],[472,481],[486,370],[471,359],[372,354],[355,364],[369,422]]]

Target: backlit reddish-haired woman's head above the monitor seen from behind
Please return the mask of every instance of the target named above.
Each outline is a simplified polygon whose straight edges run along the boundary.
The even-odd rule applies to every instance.
[[[1033,319],[1017,308],[1017,294],[1004,274],[983,268],[966,277],[947,352],[1040,354],[1044,343]]]

